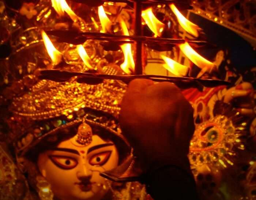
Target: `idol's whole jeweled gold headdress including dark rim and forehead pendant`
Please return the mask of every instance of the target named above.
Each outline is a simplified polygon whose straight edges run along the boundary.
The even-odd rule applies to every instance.
[[[12,127],[17,155],[24,155],[48,136],[57,141],[60,130],[78,125],[78,143],[90,142],[90,126],[103,128],[127,143],[116,119],[124,92],[116,81],[98,85],[79,84],[74,79],[39,81],[10,107],[14,113],[11,124],[16,124]]]

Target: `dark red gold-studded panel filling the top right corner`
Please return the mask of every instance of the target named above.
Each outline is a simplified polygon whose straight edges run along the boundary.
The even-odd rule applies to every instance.
[[[193,0],[192,6],[195,14],[256,40],[255,1]]]

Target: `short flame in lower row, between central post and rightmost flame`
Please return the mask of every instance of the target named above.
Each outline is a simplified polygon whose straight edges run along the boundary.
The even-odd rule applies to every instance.
[[[179,64],[171,58],[161,55],[166,64],[163,65],[165,69],[173,73],[176,76],[185,76],[188,73],[188,67]]]

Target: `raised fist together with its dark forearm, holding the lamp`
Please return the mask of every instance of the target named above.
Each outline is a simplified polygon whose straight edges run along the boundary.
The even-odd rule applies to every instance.
[[[177,86],[131,81],[121,104],[120,125],[153,199],[198,199],[187,157],[195,130],[193,108]]]

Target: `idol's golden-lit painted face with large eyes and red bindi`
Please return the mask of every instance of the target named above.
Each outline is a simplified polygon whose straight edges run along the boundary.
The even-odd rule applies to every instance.
[[[79,139],[76,135],[39,154],[38,168],[60,200],[102,199],[108,184],[99,173],[118,165],[117,148],[98,135],[91,135],[89,144]]]

